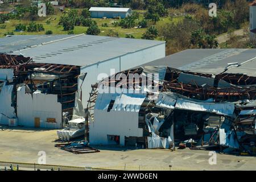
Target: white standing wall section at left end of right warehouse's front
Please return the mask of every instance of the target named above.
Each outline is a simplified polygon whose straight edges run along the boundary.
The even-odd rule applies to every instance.
[[[91,144],[113,144],[109,136],[119,136],[119,144],[125,145],[125,137],[143,137],[138,128],[139,109],[146,94],[102,93],[98,94],[94,108],[94,121],[90,123]]]

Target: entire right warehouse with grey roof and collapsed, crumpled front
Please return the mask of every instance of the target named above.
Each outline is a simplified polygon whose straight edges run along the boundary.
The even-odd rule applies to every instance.
[[[255,49],[188,49],[93,85],[86,136],[91,144],[253,155],[255,87]]]

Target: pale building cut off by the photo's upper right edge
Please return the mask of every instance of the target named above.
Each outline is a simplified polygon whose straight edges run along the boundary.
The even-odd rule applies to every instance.
[[[256,40],[256,1],[250,3],[250,40]]]

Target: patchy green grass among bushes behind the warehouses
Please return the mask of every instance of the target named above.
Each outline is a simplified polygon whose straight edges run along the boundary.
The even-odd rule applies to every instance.
[[[80,10],[79,10],[80,11]],[[139,22],[140,20],[143,19],[143,13],[145,11],[139,11],[140,17],[137,20]],[[68,31],[63,31],[63,27],[58,25],[59,19],[60,19],[61,13],[58,13],[57,15],[50,15],[45,18],[39,18],[36,20],[36,23],[42,23],[44,26],[44,31],[40,32],[15,32],[15,26],[16,24],[22,23],[22,24],[28,24],[30,23],[29,20],[15,20],[15,19],[10,19],[8,22],[5,23],[6,28],[0,28],[0,37],[4,36],[7,32],[14,32],[15,35],[42,35],[46,34],[46,31],[51,30],[53,34],[68,34]],[[46,20],[51,17],[51,19],[56,18],[53,20],[50,24],[46,23]],[[177,22],[179,19],[182,17],[175,17],[172,19],[172,21]],[[117,19],[94,19],[96,20],[98,27],[101,30],[102,36],[105,36],[108,34],[108,31],[112,29],[113,31],[118,32],[119,37],[125,37],[126,34],[132,34],[135,38],[141,39],[142,34],[146,32],[147,28],[121,28],[121,27],[114,27],[112,22],[114,21],[119,21]],[[170,22],[171,19],[169,17],[166,18],[160,18],[159,22],[156,23],[156,26],[161,26],[164,23]],[[108,27],[102,27],[102,23],[108,23]],[[82,27],[82,26],[75,26],[73,32],[74,34],[83,34],[86,32],[88,27]],[[157,38],[160,39],[160,38]]]

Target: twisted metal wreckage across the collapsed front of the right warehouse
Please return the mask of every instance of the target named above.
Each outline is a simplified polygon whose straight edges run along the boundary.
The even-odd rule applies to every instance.
[[[152,77],[156,73],[158,81]],[[139,77],[133,77],[134,74]],[[147,88],[143,87],[144,80]],[[98,93],[102,86],[106,90],[113,86],[122,90],[118,94],[108,93],[108,111],[131,111],[127,109],[127,100],[118,96],[127,95],[127,89],[146,93],[139,107],[129,105],[138,109],[138,127],[143,130],[143,136],[135,139],[136,144],[172,149],[216,147],[224,152],[255,154],[256,77],[225,72],[212,75],[162,66],[130,69],[92,86],[88,102],[92,119],[96,117],[94,109],[100,108],[101,98],[106,95]],[[138,95],[129,94],[129,99]],[[119,109],[115,107],[117,102],[122,105]],[[127,138],[134,140],[133,136]]]

